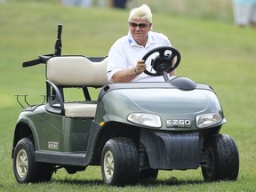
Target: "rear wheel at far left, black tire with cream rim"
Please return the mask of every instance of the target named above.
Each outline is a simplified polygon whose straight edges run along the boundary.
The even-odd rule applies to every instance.
[[[53,166],[36,163],[35,147],[28,138],[20,140],[14,148],[12,166],[19,183],[49,181],[52,178]]]

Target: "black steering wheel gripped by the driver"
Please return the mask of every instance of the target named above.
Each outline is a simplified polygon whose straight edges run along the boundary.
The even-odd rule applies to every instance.
[[[171,54],[165,54],[166,51],[171,51]],[[146,53],[142,60],[146,61],[148,57],[155,52],[158,52],[159,55],[157,55],[155,59],[151,60],[151,67],[154,68],[156,73],[152,73],[146,68],[144,73],[148,76],[163,76],[164,74],[170,73],[179,66],[180,52],[170,46],[157,47]],[[174,61],[175,63],[173,63]]]

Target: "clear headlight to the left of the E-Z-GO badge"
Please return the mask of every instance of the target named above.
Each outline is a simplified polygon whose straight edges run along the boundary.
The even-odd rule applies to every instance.
[[[160,116],[154,114],[132,113],[127,117],[128,121],[149,127],[159,128],[162,126]]]

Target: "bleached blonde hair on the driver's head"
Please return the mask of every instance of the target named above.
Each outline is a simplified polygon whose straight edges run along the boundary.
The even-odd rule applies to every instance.
[[[130,12],[128,21],[131,20],[147,20],[152,23],[152,12],[147,4],[142,4],[140,7],[133,8]]]

